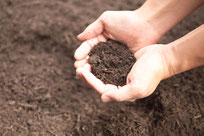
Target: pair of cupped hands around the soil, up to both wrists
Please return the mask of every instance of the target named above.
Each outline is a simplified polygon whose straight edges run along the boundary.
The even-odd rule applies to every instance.
[[[147,20],[133,11],[106,11],[78,35],[83,43],[74,54],[77,75],[101,95],[103,102],[135,101],[147,97],[161,80],[172,75],[168,45],[155,44],[160,37]],[[126,44],[137,60],[124,86],[104,84],[91,73],[88,54],[93,46],[107,39]]]

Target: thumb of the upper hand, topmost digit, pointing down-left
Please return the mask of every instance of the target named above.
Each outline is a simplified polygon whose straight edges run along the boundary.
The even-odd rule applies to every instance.
[[[100,19],[90,24],[77,38],[81,41],[89,40],[103,32],[103,23]]]

